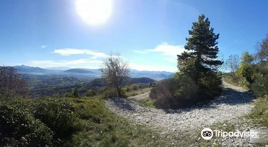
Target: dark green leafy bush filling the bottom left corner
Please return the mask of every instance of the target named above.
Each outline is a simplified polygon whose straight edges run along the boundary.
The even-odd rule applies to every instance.
[[[52,131],[35,119],[24,100],[0,102],[0,144],[3,146],[53,146]]]

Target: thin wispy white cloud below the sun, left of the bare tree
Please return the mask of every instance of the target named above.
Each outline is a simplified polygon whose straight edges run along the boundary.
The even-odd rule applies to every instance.
[[[77,54],[87,54],[87,55],[93,55],[93,57],[91,57],[92,59],[107,56],[103,52],[96,52],[96,51],[92,51],[92,50],[89,50],[89,49],[70,49],[70,48],[55,49],[54,52],[51,52],[51,53],[57,53],[57,54],[60,54],[60,55],[63,55],[63,56],[77,55]]]

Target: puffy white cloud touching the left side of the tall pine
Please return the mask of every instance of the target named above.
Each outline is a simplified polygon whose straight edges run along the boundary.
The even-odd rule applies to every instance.
[[[170,45],[166,42],[162,42],[160,45],[155,47],[154,49],[145,49],[145,50],[133,50],[133,52],[137,52],[140,54],[145,54],[147,52],[160,52],[163,53],[164,56],[167,56],[165,60],[175,63],[177,62],[177,55],[186,51],[184,49],[184,45]]]

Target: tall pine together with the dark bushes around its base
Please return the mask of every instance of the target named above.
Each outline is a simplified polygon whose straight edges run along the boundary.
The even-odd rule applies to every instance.
[[[218,69],[223,62],[217,60],[219,47],[216,41],[219,34],[214,33],[208,18],[200,15],[189,30],[189,35],[184,47],[188,52],[177,55],[179,72],[173,78],[158,82],[150,92],[150,98],[155,100],[158,108],[192,106],[211,100],[221,92],[222,81]]]

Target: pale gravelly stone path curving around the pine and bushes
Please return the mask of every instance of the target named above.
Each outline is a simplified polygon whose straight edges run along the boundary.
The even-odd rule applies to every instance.
[[[223,82],[222,94],[211,102],[199,104],[192,108],[162,110],[145,108],[138,105],[135,99],[149,97],[149,92],[131,98],[112,98],[105,100],[106,106],[119,116],[123,116],[138,124],[147,124],[152,128],[163,128],[163,133],[177,130],[198,131],[216,122],[227,122],[235,130],[259,129],[251,120],[241,119],[253,108],[254,96],[242,89]],[[261,128],[264,129],[264,128]],[[200,140],[202,138],[199,138]],[[249,138],[212,138],[214,144],[223,146],[255,146]]]

